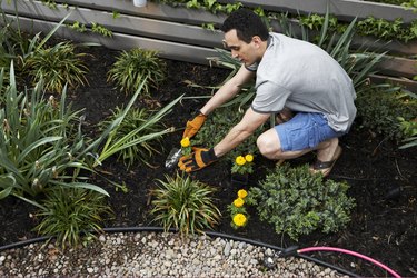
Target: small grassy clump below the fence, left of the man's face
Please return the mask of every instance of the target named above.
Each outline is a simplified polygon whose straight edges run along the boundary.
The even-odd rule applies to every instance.
[[[166,79],[166,63],[158,58],[158,51],[131,49],[122,51],[107,73],[107,80],[115,82],[126,93],[136,91],[148,77],[142,92],[150,93],[150,87],[158,86]]]

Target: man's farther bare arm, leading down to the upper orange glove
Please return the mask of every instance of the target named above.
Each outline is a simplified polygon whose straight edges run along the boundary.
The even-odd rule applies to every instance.
[[[235,97],[241,87],[254,78],[255,72],[249,71],[242,64],[238,72],[230,78],[221,88],[211,97],[211,99],[200,109],[200,111],[208,116],[217,107],[221,106],[232,97]]]

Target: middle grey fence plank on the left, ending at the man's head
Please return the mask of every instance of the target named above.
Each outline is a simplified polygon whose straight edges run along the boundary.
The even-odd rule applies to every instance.
[[[222,34],[220,31],[209,31],[197,26],[180,24],[166,20],[128,14],[120,14],[119,18],[113,19],[112,12],[109,11],[79,7],[66,8],[63,6],[57,6],[57,9],[50,9],[40,1],[18,1],[17,8],[19,14],[27,18],[59,22],[67,14],[71,13],[67,23],[79,22],[91,26],[91,22],[96,22],[119,33],[202,47],[221,47]],[[13,12],[14,7],[6,6],[3,10],[6,12]]]

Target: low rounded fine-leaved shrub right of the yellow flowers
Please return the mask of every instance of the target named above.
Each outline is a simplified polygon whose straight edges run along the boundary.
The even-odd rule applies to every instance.
[[[274,225],[277,234],[298,240],[318,229],[338,231],[349,222],[355,200],[346,195],[348,188],[346,182],[311,175],[307,165],[290,168],[284,163],[259,188],[249,189],[247,202],[257,207],[260,219]]]

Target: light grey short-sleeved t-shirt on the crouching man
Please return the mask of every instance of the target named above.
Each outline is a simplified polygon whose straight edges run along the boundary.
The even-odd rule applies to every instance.
[[[321,112],[336,131],[347,131],[356,116],[351,79],[321,48],[270,33],[267,50],[257,67],[256,112],[276,113],[289,108]]]

